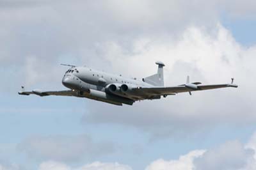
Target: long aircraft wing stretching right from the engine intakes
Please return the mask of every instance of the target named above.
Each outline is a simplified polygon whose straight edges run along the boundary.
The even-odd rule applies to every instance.
[[[148,96],[154,95],[176,95],[177,93],[184,93],[191,91],[200,91],[206,89],[217,89],[217,88],[237,88],[236,84],[211,84],[211,85],[198,85],[198,84],[182,84],[179,86],[172,87],[156,87],[156,88],[134,88],[133,91],[143,93]]]

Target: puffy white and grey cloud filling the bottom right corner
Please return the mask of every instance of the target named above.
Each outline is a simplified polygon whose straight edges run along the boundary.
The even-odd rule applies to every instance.
[[[253,170],[256,168],[253,140],[254,136],[245,146],[239,141],[228,141],[207,151],[191,151],[178,160],[155,160],[146,170]]]

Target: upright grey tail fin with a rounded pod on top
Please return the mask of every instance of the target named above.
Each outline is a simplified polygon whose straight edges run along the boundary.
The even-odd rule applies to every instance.
[[[157,73],[143,79],[144,82],[152,84],[153,86],[164,86],[164,63],[157,61],[158,65]]]

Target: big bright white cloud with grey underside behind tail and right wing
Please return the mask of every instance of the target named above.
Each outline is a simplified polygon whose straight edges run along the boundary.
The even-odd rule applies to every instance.
[[[90,102],[90,112],[84,120],[136,127],[155,139],[191,135],[223,123],[230,126],[254,123],[253,101],[256,98],[251,93],[254,91],[253,79],[256,78],[253,73],[256,72],[253,66],[256,47],[248,48],[237,43],[221,24],[216,24],[211,30],[188,27],[178,39],[148,37],[134,40],[132,54],[127,54],[118,43],[107,43],[104,58],[115,72],[127,70],[123,71],[126,75],[138,77],[155,73],[154,62],[164,61],[166,86],[183,84],[186,75],[191,75],[191,81],[202,81],[204,84],[229,83],[230,78],[235,77],[239,88],[199,91],[192,97],[179,94],[161,100],[138,102],[132,107]],[[248,75],[252,79],[248,79]]]

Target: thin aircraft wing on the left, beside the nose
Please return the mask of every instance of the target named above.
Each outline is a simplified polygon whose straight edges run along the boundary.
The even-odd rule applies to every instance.
[[[22,91],[19,92],[19,95],[38,95],[40,97],[55,95],[55,96],[77,96],[76,91],[72,90],[63,90],[63,91],[41,91],[41,90],[33,90],[33,91],[24,91],[24,87],[22,87]]]

